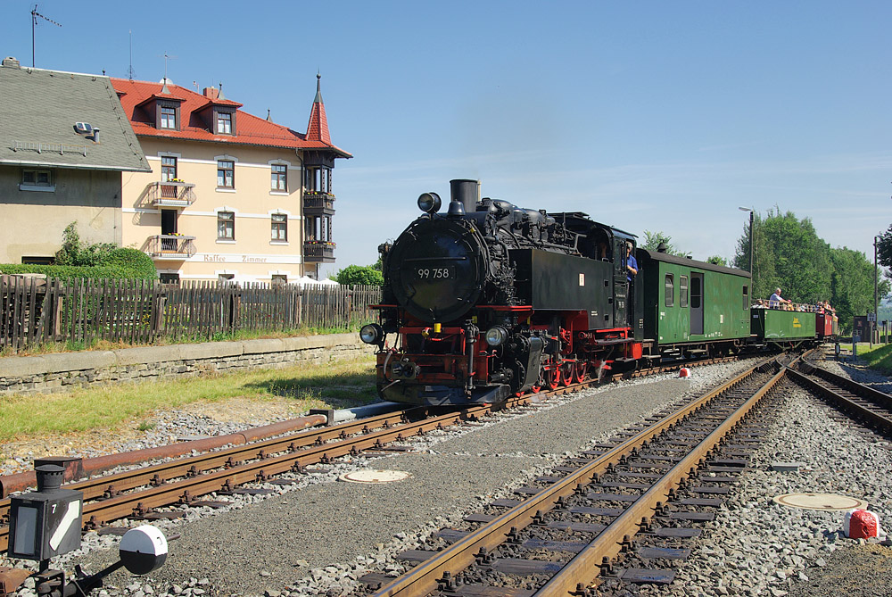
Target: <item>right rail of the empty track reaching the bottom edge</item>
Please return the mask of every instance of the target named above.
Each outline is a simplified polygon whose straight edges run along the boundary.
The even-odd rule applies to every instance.
[[[542,585],[539,591],[534,594],[537,597],[566,596],[573,592],[580,583],[590,585],[600,573],[599,565],[604,561],[615,559],[622,551],[624,543],[627,543],[627,539],[639,532],[640,521],[649,519],[653,515],[657,509],[657,502],[667,502],[670,490],[677,489],[681,485],[682,479],[695,474],[698,465],[703,459],[706,459],[709,452],[712,452],[723,437],[731,433],[740,420],[746,417],[750,410],[753,410],[764,395],[784,377],[785,372],[785,369],[780,369],[767,384],[747,399],[747,402],[739,406],[728,419],[725,419],[688,455],[667,471],[665,476],[652,485],[647,492],[641,494],[638,500],[615,518],[594,541],[577,553],[573,560],[567,562],[557,575],[552,576],[549,582]]]

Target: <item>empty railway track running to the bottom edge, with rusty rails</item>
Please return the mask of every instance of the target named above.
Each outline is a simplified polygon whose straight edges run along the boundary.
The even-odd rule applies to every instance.
[[[714,496],[727,493],[724,485],[733,483],[746,465],[739,458],[746,445],[720,448],[723,438],[783,375],[775,362],[748,369],[681,409],[634,427],[615,443],[599,444],[585,459],[558,468],[563,477],[543,477],[541,486],[521,488],[523,500],[496,502],[493,507],[500,512],[467,519],[479,523],[476,530],[445,529],[442,544],[402,554],[403,560],[419,562],[407,574],[360,580],[376,587],[376,597],[587,595],[607,576],[631,583],[671,582],[670,570],[617,570],[616,557],[632,551],[640,555],[635,535],[671,540],[696,534],[684,523],[711,514],[690,509],[717,505]],[[760,433],[737,441],[752,444]],[[698,477],[698,469],[712,476]],[[665,546],[648,550],[651,560],[671,560],[680,552]]]

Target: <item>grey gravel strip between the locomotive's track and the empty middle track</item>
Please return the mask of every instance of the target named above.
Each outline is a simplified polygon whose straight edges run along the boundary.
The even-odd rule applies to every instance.
[[[357,576],[415,547],[420,536],[458,523],[593,437],[603,438],[690,390],[688,379],[667,377],[599,388],[407,444],[421,453],[314,467],[325,472],[302,479],[297,490],[179,524],[181,538],[170,543],[166,565],[152,575],[154,592],[205,577],[209,594],[286,587],[296,594],[343,593]],[[570,423],[574,428],[567,430]],[[401,470],[411,477],[386,485],[335,482],[359,468]],[[86,561],[96,569],[108,558],[92,552]],[[112,576],[111,584],[125,585],[123,577]]]

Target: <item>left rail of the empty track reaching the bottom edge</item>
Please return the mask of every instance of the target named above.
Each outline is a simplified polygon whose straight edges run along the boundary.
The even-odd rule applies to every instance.
[[[494,518],[489,523],[483,525],[483,527],[478,528],[475,532],[452,543],[448,548],[439,551],[430,560],[421,562],[417,567],[395,579],[391,584],[381,587],[374,593],[375,597],[391,597],[394,595],[414,597],[436,591],[438,580],[442,578],[444,573],[454,576],[460,570],[467,568],[475,562],[475,555],[481,548],[490,551],[504,543],[511,527],[516,527],[518,530],[527,527],[533,522],[536,514],[551,510],[560,498],[574,493],[577,485],[588,484],[595,475],[605,472],[609,465],[618,462],[622,456],[640,448],[643,444],[661,434],[665,429],[673,427],[673,425],[687,418],[707,402],[711,402],[718,395],[723,394],[750,375],[753,375],[756,369],[764,367],[769,362],[771,361],[764,361],[745,370],[738,377],[734,377],[722,386],[714,388],[698,398],[698,400],[689,402],[680,410],[665,416],[636,435],[632,435],[621,444],[617,444],[614,448],[593,459],[591,463],[562,478],[554,485],[543,488],[540,493],[534,494],[498,518]]]

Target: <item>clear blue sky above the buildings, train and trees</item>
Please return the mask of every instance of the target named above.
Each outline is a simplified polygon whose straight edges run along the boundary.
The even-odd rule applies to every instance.
[[[33,3],[0,53],[31,63]],[[376,261],[417,195],[585,211],[705,259],[747,214],[808,217],[867,253],[892,223],[892,3],[44,0],[40,68],[199,87],[306,130],[322,73],[334,143],[333,272]]]

